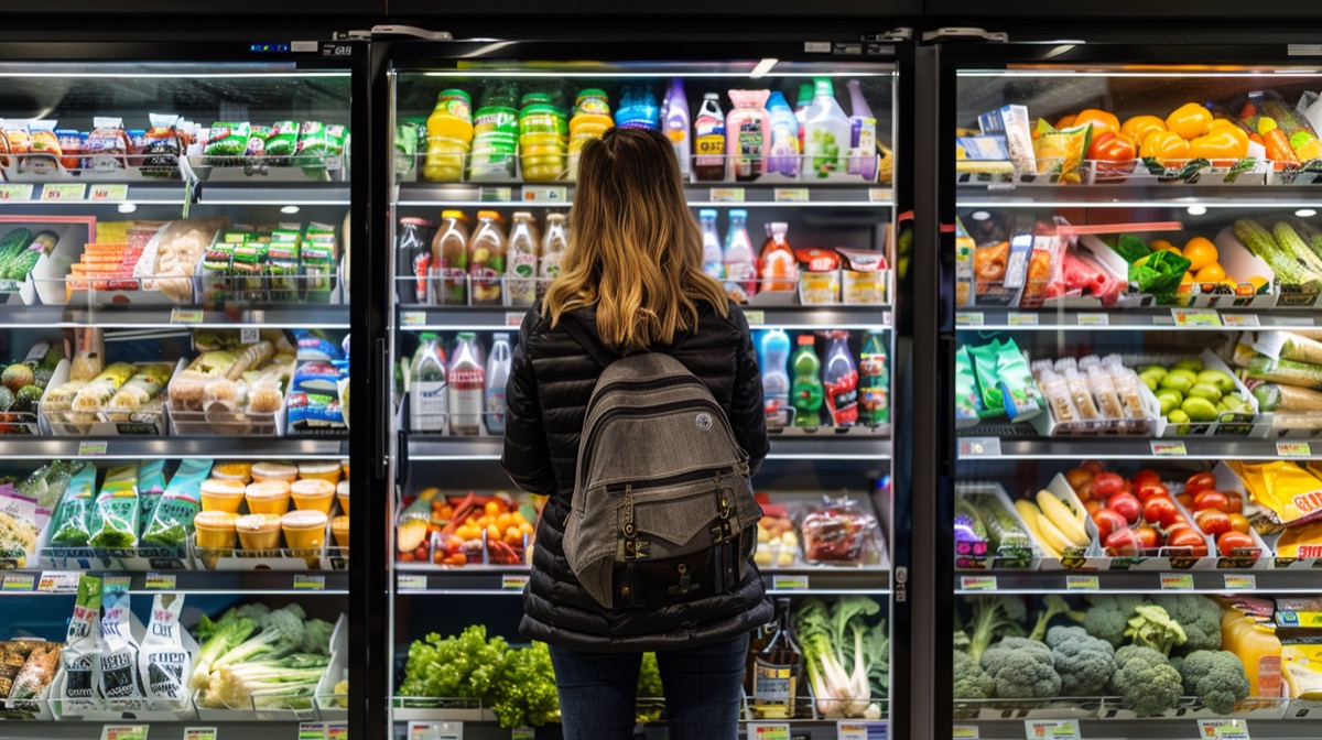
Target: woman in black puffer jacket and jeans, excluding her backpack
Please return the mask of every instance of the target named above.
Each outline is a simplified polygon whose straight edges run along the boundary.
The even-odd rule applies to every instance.
[[[505,391],[505,470],[550,497],[520,630],[551,646],[567,740],[633,736],[646,650],[657,651],[670,737],[734,740],[748,633],[772,618],[752,562],[724,593],[623,610],[600,607],[564,559],[579,431],[602,373],[564,324],[598,341],[599,354],[648,348],[682,362],[724,407],[756,472],[767,427],[748,324],[702,271],[702,235],[661,133],[612,128],[584,147],[571,221],[561,275],[524,318]]]

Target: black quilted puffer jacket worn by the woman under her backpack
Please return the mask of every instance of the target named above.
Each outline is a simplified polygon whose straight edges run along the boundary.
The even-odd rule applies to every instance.
[[[652,349],[681,361],[707,385],[756,470],[768,444],[748,324],[734,305],[728,317],[706,303],[698,305],[695,332]],[[732,592],[653,610],[607,610],[579,585],[564,559],[563,527],[574,496],[579,429],[602,366],[539,312],[533,307],[524,317],[505,388],[505,470],[524,490],[550,496],[537,525],[520,630],[586,651],[665,650],[727,640],[771,621],[771,603],[751,560]],[[579,309],[574,317],[596,337],[595,309]]]

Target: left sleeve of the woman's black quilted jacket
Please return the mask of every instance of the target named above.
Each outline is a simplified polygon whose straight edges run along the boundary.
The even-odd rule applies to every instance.
[[[505,452],[501,465],[518,488],[541,496],[555,493],[551,449],[546,441],[537,375],[527,342],[541,317],[529,311],[518,329],[518,344],[505,385]]]

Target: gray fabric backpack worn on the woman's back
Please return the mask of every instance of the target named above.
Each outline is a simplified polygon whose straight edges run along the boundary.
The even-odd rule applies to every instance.
[[[608,609],[645,609],[734,589],[758,544],[761,506],[724,410],[678,359],[603,355],[579,440],[564,558]]]

